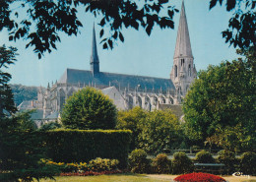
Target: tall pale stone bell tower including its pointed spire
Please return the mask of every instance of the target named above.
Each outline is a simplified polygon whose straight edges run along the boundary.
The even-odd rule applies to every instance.
[[[176,103],[180,103],[180,97],[185,96],[196,76],[197,72],[190,44],[185,6],[184,1],[182,1],[173,66],[170,73],[170,79],[176,90]]]

